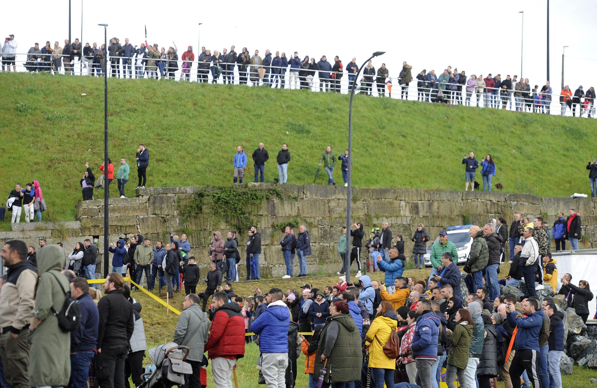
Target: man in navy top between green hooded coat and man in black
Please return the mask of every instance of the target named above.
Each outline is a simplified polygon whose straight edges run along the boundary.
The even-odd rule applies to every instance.
[[[100,315],[96,303],[89,296],[85,278],[70,281],[70,295],[81,306],[81,323],[70,332],[70,383],[73,388],[87,387],[89,364],[96,355],[97,330]]]

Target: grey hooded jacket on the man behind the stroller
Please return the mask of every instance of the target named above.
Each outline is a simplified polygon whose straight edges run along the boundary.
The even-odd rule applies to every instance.
[[[201,311],[199,304],[193,303],[183,310],[174,331],[174,342],[190,349],[187,359],[202,361],[205,344],[209,336],[210,321]]]

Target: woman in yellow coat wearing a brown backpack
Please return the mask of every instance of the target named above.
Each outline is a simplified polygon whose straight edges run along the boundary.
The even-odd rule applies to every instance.
[[[384,382],[386,387],[394,385],[396,360],[389,358],[384,353],[383,347],[390,340],[390,335],[396,327],[398,327],[398,316],[393,311],[392,304],[381,302],[377,307],[376,318],[371,322],[366,335],[370,343],[368,368],[373,368],[372,377],[376,388],[383,388]]]

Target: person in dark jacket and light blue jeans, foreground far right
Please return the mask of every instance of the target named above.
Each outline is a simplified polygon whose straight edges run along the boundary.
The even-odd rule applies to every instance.
[[[559,363],[564,354],[564,318],[565,315],[558,311],[555,304],[547,304],[543,307],[543,313],[549,316],[549,353],[547,353],[547,364],[549,364],[549,386],[562,388],[562,375]]]

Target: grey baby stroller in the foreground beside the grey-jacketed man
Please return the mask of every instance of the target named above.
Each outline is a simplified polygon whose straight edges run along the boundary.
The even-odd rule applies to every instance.
[[[191,365],[184,362],[188,355],[188,347],[174,342],[149,349],[149,359],[156,368],[152,373],[141,375],[145,380],[138,388],[171,388],[184,385],[187,375],[193,372]]]

